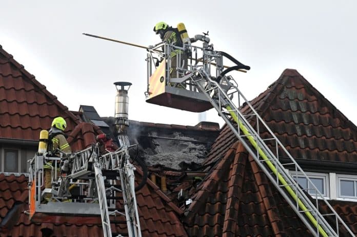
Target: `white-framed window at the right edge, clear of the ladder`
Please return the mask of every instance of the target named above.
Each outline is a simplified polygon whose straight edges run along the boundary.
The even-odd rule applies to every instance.
[[[337,175],[338,198],[357,199],[357,176]]]

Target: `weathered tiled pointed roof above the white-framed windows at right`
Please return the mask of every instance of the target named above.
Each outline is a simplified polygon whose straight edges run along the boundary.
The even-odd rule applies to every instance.
[[[251,104],[293,158],[357,163],[357,127],[296,70],[286,69]],[[248,106],[241,111],[249,114]],[[222,158],[236,140],[225,125],[205,163]]]

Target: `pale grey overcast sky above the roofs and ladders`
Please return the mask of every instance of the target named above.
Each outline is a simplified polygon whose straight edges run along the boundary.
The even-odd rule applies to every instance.
[[[209,31],[215,50],[249,65],[233,73],[248,99],[286,68],[299,71],[357,124],[355,1],[13,1],[2,0],[0,45],[70,110],[114,115],[115,81],[129,81],[129,119],[195,125],[196,113],[145,102],[146,50],[158,21]],[[228,63],[229,64],[229,63]],[[215,111],[207,120],[223,122]]]

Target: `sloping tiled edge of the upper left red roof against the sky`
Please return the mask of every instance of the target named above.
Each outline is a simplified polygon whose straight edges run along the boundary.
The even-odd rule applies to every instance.
[[[7,53],[3,47],[0,45],[0,53],[4,54],[6,59],[11,62],[21,73],[23,73],[37,88],[39,88],[47,97],[49,97],[51,100],[54,101],[54,103],[60,107],[66,113],[74,123],[78,124],[78,118],[72,114],[69,110],[68,107],[62,104],[60,101],[57,100],[57,97],[52,95],[45,87],[45,85],[41,84],[39,81],[35,79],[35,76],[30,74],[25,67],[18,63],[11,54]]]

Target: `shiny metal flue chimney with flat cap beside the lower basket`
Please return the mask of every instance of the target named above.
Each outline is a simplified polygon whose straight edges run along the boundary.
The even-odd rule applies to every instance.
[[[129,138],[127,130],[129,126],[128,109],[129,109],[129,96],[128,90],[131,86],[130,82],[114,82],[116,88],[115,96],[115,133],[119,146],[129,146]],[[127,87],[127,88],[126,88]]]

